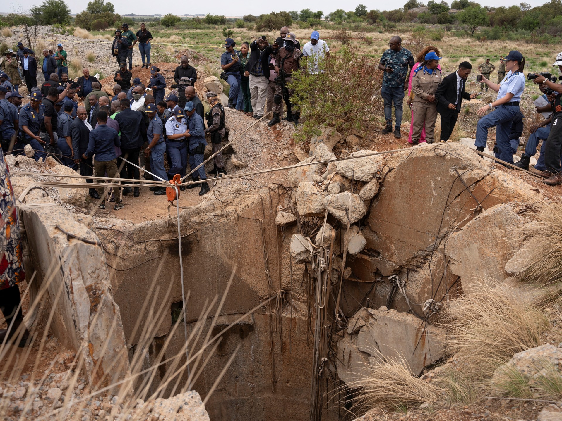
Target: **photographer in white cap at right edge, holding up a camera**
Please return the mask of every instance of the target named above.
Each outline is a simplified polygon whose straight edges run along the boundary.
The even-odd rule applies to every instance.
[[[559,70],[562,71],[562,53],[558,53],[556,61],[552,66],[558,66]],[[556,84],[542,75],[535,77],[533,83],[537,85],[543,84],[552,90],[552,93],[547,95],[547,98],[550,103],[553,103],[554,114],[552,115],[552,128],[549,138],[546,140],[546,170],[541,172],[541,176],[545,177],[546,180],[543,180],[545,184],[555,186],[562,184],[562,168],[560,167],[560,149],[562,147],[562,106],[560,105],[560,94],[562,93],[562,85]]]

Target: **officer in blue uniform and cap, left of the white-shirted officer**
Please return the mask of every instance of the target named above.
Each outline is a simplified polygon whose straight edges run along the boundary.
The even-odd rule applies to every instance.
[[[146,106],[146,113],[149,120],[148,129],[146,129],[146,137],[149,144],[144,149],[144,157],[150,157],[150,169],[155,176],[160,177],[162,180],[169,180],[164,169],[166,140],[162,136],[162,120],[157,115],[156,104],[148,104]],[[165,187],[150,187],[150,190],[157,196],[166,194]]]

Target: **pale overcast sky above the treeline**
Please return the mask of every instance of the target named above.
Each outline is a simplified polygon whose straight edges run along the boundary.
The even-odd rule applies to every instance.
[[[362,4],[367,6],[368,10],[371,9],[378,9],[378,10],[388,10],[389,8],[397,8],[400,4],[406,3],[407,0],[400,0],[397,3],[388,3],[384,1],[376,1],[376,2],[369,2],[365,1]],[[448,1],[448,0],[447,0]],[[452,1],[452,0],[451,0]],[[483,6],[512,6],[513,4],[519,4],[519,0],[517,2],[508,2],[506,0],[483,0],[480,1]],[[427,3],[427,1],[424,1]],[[545,1],[541,0],[526,0],[527,3],[531,4],[531,6],[540,6],[541,4],[545,3]],[[10,6],[6,7],[6,3],[4,6],[0,8],[2,12],[12,12],[13,9],[19,10],[20,7],[23,10],[29,10],[30,7],[35,6],[36,4],[41,4],[42,2],[38,0],[19,0],[17,2],[10,2]],[[114,0],[112,3],[115,6],[115,11],[120,13],[121,15],[125,15],[126,13],[135,13],[137,15],[152,15],[153,13],[161,13],[165,15],[166,13],[174,13],[175,15],[184,15],[185,13],[189,13],[190,15],[195,15],[197,13],[211,13],[212,15],[225,15],[225,16],[242,16],[242,15],[260,15],[261,13],[269,13],[272,11],[279,11],[276,4],[279,2],[270,2],[265,4],[264,2],[235,2],[232,0],[215,0],[212,4],[203,2],[183,2],[183,3],[169,3],[169,2],[153,2],[151,0],[137,0],[134,2],[128,1],[117,1]],[[341,1],[337,0],[324,0],[323,2],[312,1],[312,0],[303,0],[297,3],[290,3],[293,4],[292,7],[289,7],[289,3],[287,4],[287,8],[285,10],[296,10],[303,9],[303,8],[310,8],[313,11],[321,10],[327,15],[334,10],[339,8],[343,8],[344,10],[355,10],[355,6],[360,4],[361,2],[357,3],[346,3],[342,4]],[[451,2],[449,1],[449,4]],[[86,8],[87,0],[66,0],[66,4],[69,5],[71,13],[79,13]],[[172,5],[176,7],[172,7]],[[241,9],[242,5],[246,5],[247,7]]]

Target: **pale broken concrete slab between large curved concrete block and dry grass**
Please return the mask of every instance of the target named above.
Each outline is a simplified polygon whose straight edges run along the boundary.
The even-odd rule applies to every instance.
[[[465,294],[475,292],[482,282],[493,287],[505,281],[506,263],[515,252],[507,236],[520,221],[509,205],[500,204],[451,234],[445,250],[451,259],[451,271],[461,277]]]

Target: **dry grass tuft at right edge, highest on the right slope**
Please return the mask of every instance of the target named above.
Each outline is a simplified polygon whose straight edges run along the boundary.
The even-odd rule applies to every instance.
[[[527,250],[525,262],[530,264],[517,277],[538,285],[562,282],[562,204],[541,205],[534,222],[522,226],[519,234],[532,240],[523,246]]]

